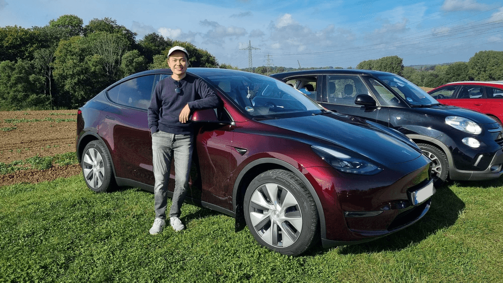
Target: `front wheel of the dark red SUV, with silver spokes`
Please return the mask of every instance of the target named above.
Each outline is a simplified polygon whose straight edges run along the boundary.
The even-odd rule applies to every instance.
[[[269,170],[251,181],[244,218],[260,245],[281,254],[299,255],[319,238],[316,204],[304,183],[286,170]]]

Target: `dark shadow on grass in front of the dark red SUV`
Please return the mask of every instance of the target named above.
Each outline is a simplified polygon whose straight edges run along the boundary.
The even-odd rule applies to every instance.
[[[391,235],[379,238],[374,241],[339,246],[337,249],[341,254],[360,254],[369,252],[401,250],[411,244],[419,243],[439,230],[448,228],[456,222],[460,211],[465,204],[454,194],[447,185],[443,185],[432,197],[430,211],[416,223]],[[321,245],[319,245],[321,246]],[[324,253],[327,249],[321,247],[314,248],[305,255],[316,255]]]

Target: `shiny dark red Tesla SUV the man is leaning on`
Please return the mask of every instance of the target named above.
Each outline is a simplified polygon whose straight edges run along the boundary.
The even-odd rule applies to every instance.
[[[261,245],[297,255],[318,239],[324,247],[364,242],[403,229],[429,210],[431,161],[402,134],[326,111],[271,77],[188,72],[205,80],[222,104],[193,114],[187,200],[244,217]],[[152,191],[147,107],[156,83],[170,74],[131,75],[78,110],[76,151],[92,190]]]

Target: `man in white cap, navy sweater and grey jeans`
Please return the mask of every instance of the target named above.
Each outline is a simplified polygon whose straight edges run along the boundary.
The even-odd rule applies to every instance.
[[[191,111],[215,108],[219,99],[201,79],[187,74],[189,53],[180,46],[170,49],[167,63],[173,74],[157,83],[148,107],[148,127],[152,135],[152,163],[155,177],[155,220],[149,233],[159,234],[166,220],[166,190],[170,167],[175,158],[175,192],[170,223],[175,231],[185,228],[180,220],[181,207],[189,186],[194,147]]]

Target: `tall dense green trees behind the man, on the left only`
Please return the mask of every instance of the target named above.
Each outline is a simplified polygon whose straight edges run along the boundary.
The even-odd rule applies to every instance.
[[[76,109],[111,83],[147,69],[167,68],[167,51],[187,49],[193,67],[218,67],[191,43],[136,33],[110,18],[64,15],[44,27],[0,28],[0,110]]]

